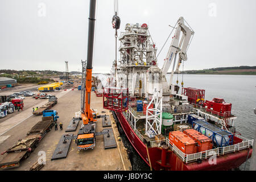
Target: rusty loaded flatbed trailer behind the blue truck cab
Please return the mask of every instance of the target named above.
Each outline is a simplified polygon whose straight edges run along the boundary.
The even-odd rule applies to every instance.
[[[7,155],[1,160],[0,169],[19,167],[20,161],[30,156],[47,131],[50,131],[55,125],[55,122],[53,117],[42,117],[42,120],[28,131],[24,139],[19,140],[14,146],[2,153],[7,153]]]

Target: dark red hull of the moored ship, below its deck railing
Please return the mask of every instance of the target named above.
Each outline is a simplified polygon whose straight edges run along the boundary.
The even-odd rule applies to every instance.
[[[238,168],[246,161],[248,152],[248,159],[251,157],[253,150],[251,148],[218,156],[214,164],[210,164],[209,160],[202,160],[200,163],[184,163],[179,156],[171,150],[164,150],[159,147],[147,148],[141,139],[134,133],[133,129],[127,122],[126,118],[121,112],[115,112],[123,131],[134,149],[138,152],[144,162],[150,166],[148,155],[152,168],[155,170],[172,170],[172,171],[195,171],[195,170],[230,170]],[[249,150],[249,151],[248,151]]]

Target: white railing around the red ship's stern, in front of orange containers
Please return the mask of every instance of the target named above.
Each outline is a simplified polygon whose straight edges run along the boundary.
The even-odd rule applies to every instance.
[[[218,147],[203,152],[197,152],[195,154],[184,154],[184,152],[182,152],[178,147],[176,147],[175,144],[172,144],[168,138],[166,138],[166,144],[183,160],[183,162],[190,163],[195,162],[196,160],[204,160],[210,158],[211,156],[221,156],[231,152],[236,152],[249,148],[250,146],[253,146],[253,139],[249,140],[244,138],[243,142],[237,144],[233,144],[226,147]]]

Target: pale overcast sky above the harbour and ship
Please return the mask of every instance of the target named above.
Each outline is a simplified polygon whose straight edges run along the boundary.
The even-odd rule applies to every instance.
[[[93,72],[107,73],[115,58],[114,1],[98,0],[96,11]],[[118,34],[126,23],[147,23],[158,51],[183,16],[195,31],[184,70],[256,65],[255,0],[120,0],[118,15]],[[0,69],[65,71],[68,61],[69,71],[81,71],[88,16],[89,0],[1,0]]]

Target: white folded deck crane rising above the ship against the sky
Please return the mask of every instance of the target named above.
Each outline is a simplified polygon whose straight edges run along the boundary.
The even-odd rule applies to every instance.
[[[189,47],[189,44],[192,40],[192,35],[195,34],[195,32],[187,27],[185,25],[185,20],[183,17],[180,17],[177,21],[177,27],[174,36],[172,37],[171,46],[168,50],[167,57],[164,61],[163,68],[162,68],[162,74],[163,76],[166,76],[166,73],[168,72],[168,69],[171,67],[172,61],[174,60],[172,72],[171,72],[171,78],[170,78],[170,89],[172,90],[172,93],[174,92],[174,85],[172,85],[172,79],[174,77],[174,69],[176,65],[176,56],[179,55],[179,59],[177,61],[176,65],[176,72],[179,72],[179,67],[181,64],[181,61],[187,60],[187,49]],[[180,32],[183,33],[180,39]]]

